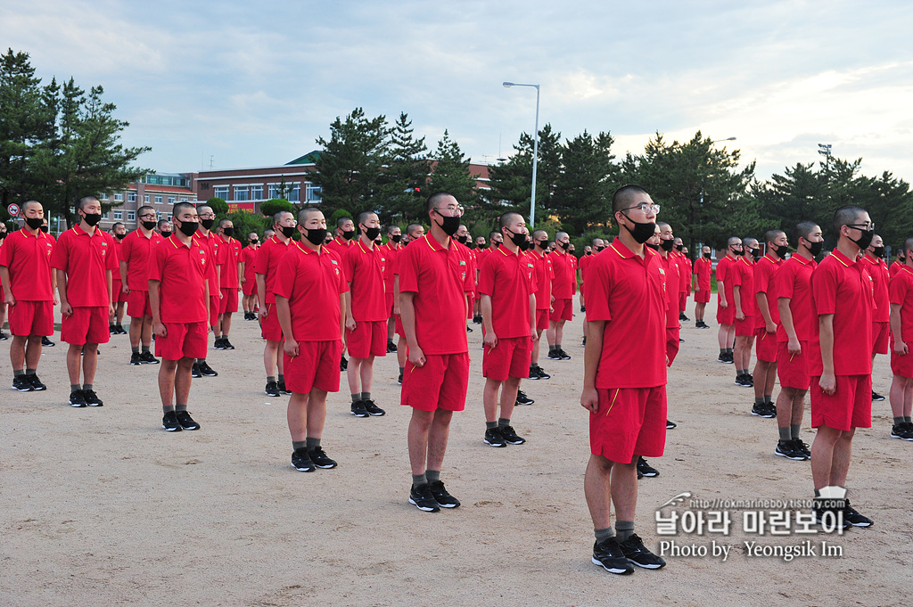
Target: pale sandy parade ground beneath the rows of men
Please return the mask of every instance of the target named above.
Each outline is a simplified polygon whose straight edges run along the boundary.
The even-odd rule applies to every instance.
[[[811,497],[809,463],[773,455],[774,421],[748,413],[752,392],[716,361],[712,306],[713,330],[693,321],[682,330],[668,378],[678,427],[667,434],[666,456],[651,460],[661,475],[639,485],[636,530],[655,550],[656,508],[681,492]],[[343,379],[323,441],[340,466],[302,474],[289,466],[287,399],[264,395],[257,323],[241,318],[232,332],[237,350],[210,352],[219,377],[194,380],[199,432],[162,430],[158,367],[129,366],[127,336],[101,347],[95,385],[103,408],[67,405],[62,343],[41,361],[47,392],[0,392],[0,603],[909,604],[913,444],[889,437],[887,402],[875,404],[874,427],[857,434],[848,481],[854,505],[875,525],[824,538],[842,558],[747,556],[746,540],[822,538],[753,537],[742,530],[746,508],[729,508],[729,536],[671,538],[698,548],[716,539],[733,547],[725,562],[667,556],[665,570],[619,577],[590,563],[581,314],[565,333],[572,360],[548,361],[543,351],[551,380],[524,382],[536,403],[519,407],[513,425],[529,442],[506,449],[482,442],[481,332],[469,335],[467,410],[454,418],[442,476],[463,506],[436,514],[407,502],[409,411],[398,404],[394,355],[375,367],[373,394],[388,414],[352,417]],[[4,361],[9,343],[0,342]],[[887,393],[889,379],[887,357],[878,357],[876,390]],[[813,439],[807,419],[803,439]]]

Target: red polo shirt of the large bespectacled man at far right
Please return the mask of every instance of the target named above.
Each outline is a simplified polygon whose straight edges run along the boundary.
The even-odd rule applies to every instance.
[[[834,375],[870,374],[875,300],[866,267],[834,249],[812,273],[812,301],[815,314],[834,315]],[[821,375],[824,363],[818,323],[809,346],[809,372]]]

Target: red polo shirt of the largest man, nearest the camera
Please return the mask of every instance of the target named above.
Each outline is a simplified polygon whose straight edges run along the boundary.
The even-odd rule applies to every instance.
[[[666,281],[659,254],[635,255],[620,238],[587,270],[589,320],[604,320],[596,388],[653,388],[666,384]]]

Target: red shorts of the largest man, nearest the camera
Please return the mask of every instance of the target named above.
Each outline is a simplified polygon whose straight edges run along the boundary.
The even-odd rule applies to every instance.
[[[600,389],[590,413],[590,453],[619,464],[660,457],[666,446],[666,386]]]

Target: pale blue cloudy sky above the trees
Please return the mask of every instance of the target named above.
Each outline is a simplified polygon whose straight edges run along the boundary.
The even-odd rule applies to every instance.
[[[609,131],[616,156],[660,132],[740,150],[767,179],[862,158],[913,182],[913,3],[5,0],[2,44],[37,76],[101,85],[122,141],[158,172],[268,166],[318,149],[356,107],[406,112],[497,162],[540,127]],[[5,48],[3,49],[5,50]]]

